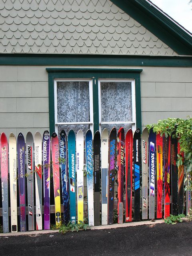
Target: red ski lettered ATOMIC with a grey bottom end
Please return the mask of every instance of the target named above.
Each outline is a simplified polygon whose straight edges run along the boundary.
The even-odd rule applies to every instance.
[[[117,179],[118,179],[118,224],[123,223],[123,185],[124,185],[124,160],[125,160],[125,135],[124,128],[121,127],[117,134]]]

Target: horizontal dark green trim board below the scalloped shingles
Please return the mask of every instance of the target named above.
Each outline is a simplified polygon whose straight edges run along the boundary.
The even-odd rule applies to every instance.
[[[0,54],[0,65],[192,67],[192,56],[141,56],[115,54]]]

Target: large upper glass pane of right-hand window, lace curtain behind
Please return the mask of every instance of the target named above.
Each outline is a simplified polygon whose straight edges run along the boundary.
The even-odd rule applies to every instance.
[[[131,82],[101,82],[101,122],[132,121]]]

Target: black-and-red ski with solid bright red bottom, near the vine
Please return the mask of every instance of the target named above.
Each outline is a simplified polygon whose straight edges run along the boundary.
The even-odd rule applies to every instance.
[[[164,153],[164,219],[170,216],[170,136],[163,137]]]

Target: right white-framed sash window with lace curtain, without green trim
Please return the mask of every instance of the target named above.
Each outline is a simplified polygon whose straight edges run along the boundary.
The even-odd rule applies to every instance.
[[[134,80],[99,80],[100,128],[136,128]]]

